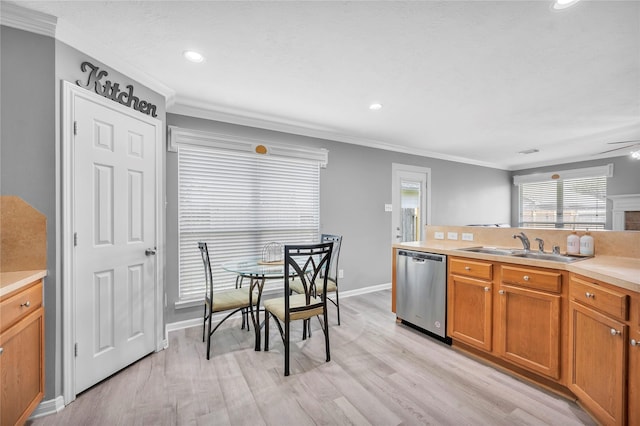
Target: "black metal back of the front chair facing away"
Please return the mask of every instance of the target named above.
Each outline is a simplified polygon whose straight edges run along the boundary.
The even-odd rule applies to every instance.
[[[292,278],[299,279],[304,288],[307,306],[301,307],[304,310],[312,307],[311,298],[316,297],[317,286],[321,286],[322,294],[327,292],[327,278],[329,275],[329,267],[331,266],[331,253],[333,252],[333,243],[319,244],[303,244],[303,245],[286,245],[284,247],[284,276],[285,276],[285,293],[290,294],[289,283]],[[289,298],[285,297],[285,311],[290,312]],[[322,303],[316,305],[324,305],[326,301],[323,297]],[[292,309],[291,312],[294,310]]]

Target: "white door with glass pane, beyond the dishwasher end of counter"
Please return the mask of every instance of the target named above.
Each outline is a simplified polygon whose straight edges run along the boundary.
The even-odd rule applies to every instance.
[[[431,170],[393,164],[392,173],[392,241],[424,240],[424,226],[431,216]]]

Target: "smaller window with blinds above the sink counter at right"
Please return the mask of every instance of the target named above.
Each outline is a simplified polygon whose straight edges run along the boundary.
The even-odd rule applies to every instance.
[[[519,226],[604,229],[605,176],[521,183]]]

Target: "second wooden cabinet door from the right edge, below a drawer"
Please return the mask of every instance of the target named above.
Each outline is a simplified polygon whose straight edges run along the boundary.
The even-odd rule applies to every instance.
[[[607,425],[625,424],[627,326],[570,302],[569,389]]]

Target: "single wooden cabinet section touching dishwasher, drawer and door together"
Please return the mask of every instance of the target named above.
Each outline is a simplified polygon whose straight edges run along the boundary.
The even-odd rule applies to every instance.
[[[484,351],[492,349],[492,277],[490,262],[449,258],[448,334]]]

